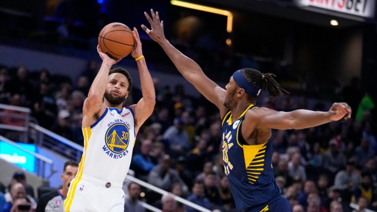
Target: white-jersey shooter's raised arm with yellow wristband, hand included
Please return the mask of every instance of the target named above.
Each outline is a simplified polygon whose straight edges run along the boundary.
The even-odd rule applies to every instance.
[[[136,105],[131,106],[135,112],[135,132],[137,133],[140,126],[145,122],[145,120],[147,120],[155,108],[156,93],[152,77],[148,71],[148,67],[143,56],[139,33],[135,27],[132,32],[134,34],[136,47],[131,52],[131,55],[135,58],[137,63],[137,68],[140,75],[141,93],[143,95]]]

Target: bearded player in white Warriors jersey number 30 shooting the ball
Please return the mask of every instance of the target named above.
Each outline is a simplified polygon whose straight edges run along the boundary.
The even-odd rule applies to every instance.
[[[136,47],[131,55],[139,70],[143,98],[136,105],[122,107],[132,87],[130,74],[123,68],[111,69],[118,61],[97,46],[103,62],[82,107],[84,151],[64,201],[65,212],[124,211],[122,185],[135,136],[155,106],[155,89],[136,28],[133,34]]]

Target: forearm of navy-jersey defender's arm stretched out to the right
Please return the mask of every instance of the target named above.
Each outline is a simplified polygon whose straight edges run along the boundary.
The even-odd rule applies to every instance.
[[[305,129],[331,122],[328,112],[298,109],[291,112],[292,128]]]

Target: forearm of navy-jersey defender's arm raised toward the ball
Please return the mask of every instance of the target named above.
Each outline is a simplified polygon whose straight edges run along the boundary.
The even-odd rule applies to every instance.
[[[168,40],[163,39],[158,43],[170,58],[170,60],[174,63],[178,71],[183,75],[183,77],[186,78],[189,82],[193,83],[194,81],[191,77],[191,74],[202,72],[200,66],[191,58],[177,50],[173,45],[170,44]]]

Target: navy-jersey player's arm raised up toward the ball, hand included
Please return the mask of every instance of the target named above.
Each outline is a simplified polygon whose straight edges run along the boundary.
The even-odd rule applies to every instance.
[[[225,99],[225,90],[218,86],[214,81],[209,79],[200,68],[200,66],[188,58],[185,54],[178,51],[169,41],[165,38],[163,32],[163,21],[160,21],[159,13],[151,9],[152,18],[148,13],[144,12],[151,29],[141,25],[145,32],[156,41],[167,54],[170,60],[174,63],[175,67],[195,88],[210,102],[215,104],[220,109],[220,114],[223,116],[228,110],[223,104]]]

